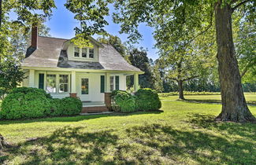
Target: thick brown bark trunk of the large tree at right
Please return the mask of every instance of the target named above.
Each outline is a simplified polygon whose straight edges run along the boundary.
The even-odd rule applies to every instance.
[[[221,83],[221,114],[217,120],[234,122],[253,122],[243,95],[241,76],[235,55],[232,38],[232,8],[229,4],[221,6],[221,0],[215,6],[217,31],[217,61]]]

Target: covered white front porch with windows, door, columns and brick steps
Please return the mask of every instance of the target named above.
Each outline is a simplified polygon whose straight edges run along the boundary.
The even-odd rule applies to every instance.
[[[83,111],[103,112],[111,106],[113,90],[126,90],[126,77],[134,75],[134,90],[139,89],[137,72],[46,71],[29,69],[23,86],[41,88],[54,98],[78,97]]]

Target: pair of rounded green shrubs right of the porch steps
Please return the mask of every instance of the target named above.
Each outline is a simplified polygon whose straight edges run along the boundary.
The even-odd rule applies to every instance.
[[[116,112],[155,111],[161,108],[158,93],[149,88],[138,90],[135,96],[126,91],[114,90],[111,100]]]

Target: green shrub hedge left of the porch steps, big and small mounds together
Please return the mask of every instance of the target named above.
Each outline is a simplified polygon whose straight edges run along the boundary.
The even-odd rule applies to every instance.
[[[77,98],[52,98],[45,90],[15,88],[2,101],[0,119],[31,119],[45,116],[78,115],[82,101]]]

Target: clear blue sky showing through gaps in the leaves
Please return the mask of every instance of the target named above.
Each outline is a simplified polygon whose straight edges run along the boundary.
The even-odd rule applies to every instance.
[[[74,15],[69,12],[68,9],[65,9],[65,1],[55,1],[57,9],[53,10],[53,16],[50,20],[46,21],[46,26],[50,27],[50,35],[57,38],[72,38],[75,35],[73,30],[76,25],[79,24],[77,20],[74,19]],[[111,12],[111,9],[110,9]],[[114,24],[111,16],[106,17],[109,22],[109,26],[106,27],[106,31],[111,35],[117,35],[121,38],[122,42],[127,41],[128,35],[119,34],[120,26]],[[148,57],[153,60],[158,58],[158,50],[154,49],[154,38],[152,35],[153,29],[147,27],[144,24],[139,25],[139,32],[143,35],[143,40],[139,41],[139,44],[135,46],[143,46],[144,49],[148,49]]]

